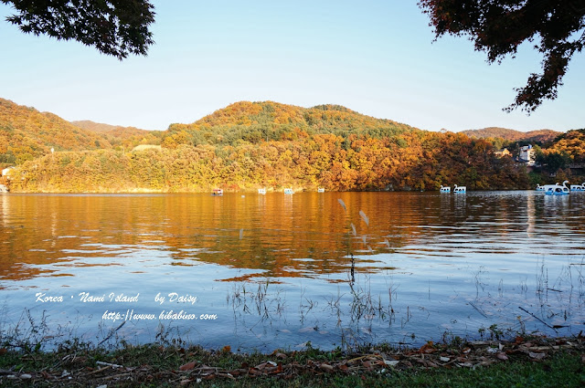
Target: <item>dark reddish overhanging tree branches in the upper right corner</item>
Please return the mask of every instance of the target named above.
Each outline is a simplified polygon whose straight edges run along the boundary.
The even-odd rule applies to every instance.
[[[489,63],[514,58],[525,41],[537,42],[542,73],[531,74],[527,85],[516,89],[508,112],[529,113],[543,100],[556,99],[569,59],[585,45],[585,0],[420,0],[419,6],[431,16],[437,38],[469,36]]]

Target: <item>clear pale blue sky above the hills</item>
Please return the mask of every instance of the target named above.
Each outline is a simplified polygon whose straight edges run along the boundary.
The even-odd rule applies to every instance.
[[[124,61],[22,34],[0,4],[0,97],[69,120],[146,130],[239,100],[332,103],[422,130],[585,127],[585,54],[558,99],[531,116],[502,108],[540,70],[532,47],[488,65],[466,38],[432,42],[416,1],[154,1],[156,44]]]

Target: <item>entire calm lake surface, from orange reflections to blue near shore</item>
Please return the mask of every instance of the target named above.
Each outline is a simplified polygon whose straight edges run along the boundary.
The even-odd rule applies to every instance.
[[[3,194],[0,329],[233,351],[576,334],[584,209],[536,192]]]

